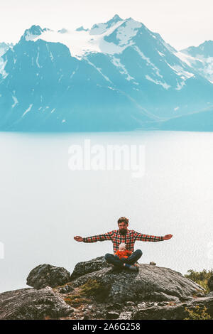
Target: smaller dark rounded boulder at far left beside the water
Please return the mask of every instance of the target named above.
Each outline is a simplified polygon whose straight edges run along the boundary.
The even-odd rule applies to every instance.
[[[26,284],[35,289],[41,289],[45,286],[55,288],[55,286],[60,286],[68,281],[70,281],[70,272],[67,269],[50,264],[40,264],[28,274]]]

